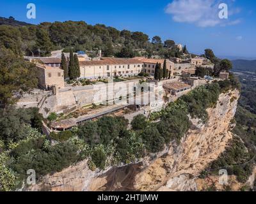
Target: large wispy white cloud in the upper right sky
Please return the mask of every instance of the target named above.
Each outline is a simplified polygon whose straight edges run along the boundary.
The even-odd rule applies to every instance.
[[[233,0],[232,0],[233,1]],[[216,25],[235,25],[241,21],[219,18],[219,4],[216,0],[174,0],[169,3],[165,12],[172,15],[175,22],[196,24],[199,27],[214,27]],[[228,15],[239,13],[239,8],[228,8]]]

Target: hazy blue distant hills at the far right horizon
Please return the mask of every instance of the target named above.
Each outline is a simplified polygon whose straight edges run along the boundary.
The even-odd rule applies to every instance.
[[[256,72],[256,60],[237,59],[232,61],[233,71]]]

